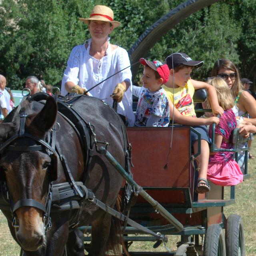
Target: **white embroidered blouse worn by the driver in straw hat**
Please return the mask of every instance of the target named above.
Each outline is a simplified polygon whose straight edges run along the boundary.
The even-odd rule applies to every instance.
[[[127,51],[119,46],[111,51],[109,41],[106,56],[100,60],[90,56],[91,42],[91,39],[88,40],[87,49],[85,44],[75,46],[72,49],[62,78],[61,95],[67,93],[65,89],[66,82],[71,81],[88,90],[109,76],[130,66]],[[92,89],[89,95],[100,98],[112,106],[113,99],[110,98],[110,95],[113,93],[116,84],[122,81],[128,81],[130,87],[124,93],[122,102],[118,103],[117,110],[119,114],[127,117],[128,125],[132,126],[134,124],[134,113],[132,111],[132,73],[130,68],[126,68],[102,82]]]

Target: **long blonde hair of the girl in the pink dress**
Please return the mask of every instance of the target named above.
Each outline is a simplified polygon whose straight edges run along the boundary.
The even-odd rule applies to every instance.
[[[233,108],[234,98],[232,97],[231,91],[228,88],[228,85],[223,78],[221,77],[208,78],[206,82],[212,85],[216,89],[219,105],[224,110]],[[209,102],[207,103],[207,105],[210,106]]]

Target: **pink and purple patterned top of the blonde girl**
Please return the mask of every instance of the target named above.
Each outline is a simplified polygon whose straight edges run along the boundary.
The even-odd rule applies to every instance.
[[[236,128],[236,116],[232,109],[227,109],[224,114],[220,117],[220,122],[215,128],[215,134],[220,134],[226,140],[230,140],[230,134]],[[212,124],[209,127],[209,136],[212,138]],[[233,144],[222,140],[220,148],[232,149]],[[217,152],[211,155],[209,162],[222,162],[228,161],[232,158],[233,152]]]

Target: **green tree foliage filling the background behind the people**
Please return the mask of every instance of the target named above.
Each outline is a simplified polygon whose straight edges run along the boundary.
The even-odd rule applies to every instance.
[[[29,75],[60,85],[71,49],[90,38],[87,25],[93,6],[112,8],[121,22],[111,42],[127,50],[154,22],[183,0],[2,0],[0,3],[0,74],[11,88],[22,88]],[[164,61],[171,51],[185,52],[204,66],[193,78],[203,80],[218,58],[229,58],[242,76],[256,80],[256,2],[222,0],[180,22],[159,38],[151,59]],[[145,56],[146,57],[146,56]],[[140,74],[140,72],[139,72]],[[136,78],[136,80],[139,80]]]

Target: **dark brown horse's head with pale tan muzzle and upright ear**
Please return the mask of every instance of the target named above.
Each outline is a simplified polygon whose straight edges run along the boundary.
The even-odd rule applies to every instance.
[[[0,172],[5,176],[11,206],[14,206],[13,215],[18,221],[16,239],[28,251],[38,250],[45,242],[45,219],[41,206],[47,200],[53,158],[40,141],[44,141],[56,116],[54,98],[48,97],[43,108],[38,102],[24,100],[12,122],[0,124]],[[20,136],[22,129],[24,136]],[[33,204],[24,204],[27,199],[32,199]],[[39,206],[36,206],[37,202]]]

